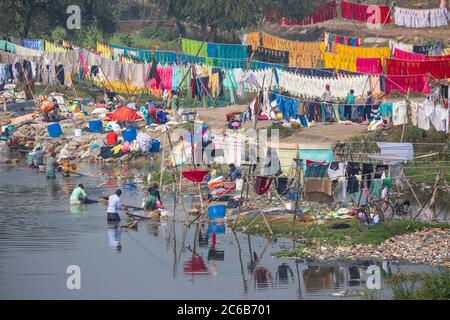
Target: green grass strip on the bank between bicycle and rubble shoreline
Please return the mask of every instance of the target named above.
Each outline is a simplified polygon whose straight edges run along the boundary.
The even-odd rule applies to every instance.
[[[268,217],[271,228],[276,236],[292,237],[291,219],[272,219]],[[245,232],[256,235],[267,235],[268,228],[260,217],[253,222],[249,218],[239,223],[239,227],[246,228]],[[347,229],[332,229],[334,223],[346,223]],[[450,228],[448,223],[429,223],[421,221],[389,221],[367,228],[357,220],[326,221],[323,224],[296,222],[293,236],[305,242],[321,243],[330,246],[347,246],[353,244],[378,245],[383,241],[405,233],[412,233],[425,228]],[[298,252],[284,252],[285,256],[295,256]]]

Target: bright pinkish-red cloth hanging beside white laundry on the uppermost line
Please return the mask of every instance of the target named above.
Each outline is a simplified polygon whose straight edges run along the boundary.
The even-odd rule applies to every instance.
[[[375,21],[373,16],[376,14],[376,10],[378,9],[380,10],[380,21]],[[391,23],[390,12],[391,8],[389,6],[372,6],[345,0],[341,1],[342,18],[348,20],[370,22],[372,24],[389,24]]]

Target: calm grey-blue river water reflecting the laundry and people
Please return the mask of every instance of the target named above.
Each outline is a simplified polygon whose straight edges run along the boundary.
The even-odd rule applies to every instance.
[[[46,180],[22,165],[0,166],[0,299],[342,299],[336,294],[366,289],[371,265],[381,267],[382,280],[386,271],[431,270],[276,259],[271,254],[290,241],[208,224],[188,229],[170,196],[165,204],[180,222],[141,221],[135,231],[121,230],[106,222],[104,205],[68,203],[80,182],[93,199],[122,187],[123,203],[140,203],[140,191],[115,181],[96,188],[102,181]],[[80,290],[67,288],[71,265],[80,268]]]

